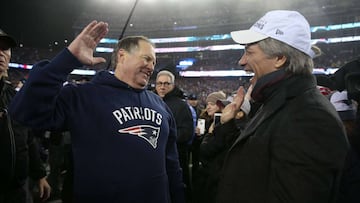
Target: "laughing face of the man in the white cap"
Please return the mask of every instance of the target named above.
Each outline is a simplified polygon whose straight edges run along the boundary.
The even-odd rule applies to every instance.
[[[254,72],[253,80],[276,71],[275,66],[277,57],[267,56],[258,44],[245,46],[245,52],[241,57],[239,64],[245,67],[245,70]]]

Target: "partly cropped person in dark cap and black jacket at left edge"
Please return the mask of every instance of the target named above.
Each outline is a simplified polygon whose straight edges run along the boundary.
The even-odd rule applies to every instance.
[[[31,131],[8,114],[7,107],[16,91],[6,80],[11,48],[15,40],[0,30],[0,202],[25,203],[29,197],[27,178],[38,181],[40,198],[47,199],[50,186],[40,160],[38,143]]]

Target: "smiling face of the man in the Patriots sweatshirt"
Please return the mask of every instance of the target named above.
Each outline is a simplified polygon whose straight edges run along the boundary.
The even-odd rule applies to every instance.
[[[115,76],[133,88],[143,89],[154,72],[155,63],[154,47],[141,40],[138,49],[132,53],[119,50]]]

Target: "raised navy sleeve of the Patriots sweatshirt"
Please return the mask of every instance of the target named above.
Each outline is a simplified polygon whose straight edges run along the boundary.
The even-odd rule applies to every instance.
[[[35,129],[61,129],[65,123],[65,106],[57,100],[58,94],[67,76],[79,66],[82,64],[68,49],[52,61],[34,65],[25,85],[10,104],[13,119]]]

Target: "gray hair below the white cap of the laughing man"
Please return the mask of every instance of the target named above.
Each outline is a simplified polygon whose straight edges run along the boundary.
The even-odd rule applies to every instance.
[[[269,57],[285,56],[284,69],[293,74],[312,74],[314,62],[310,56],[276,39],[266,38],[258,42],[261,50]]]

